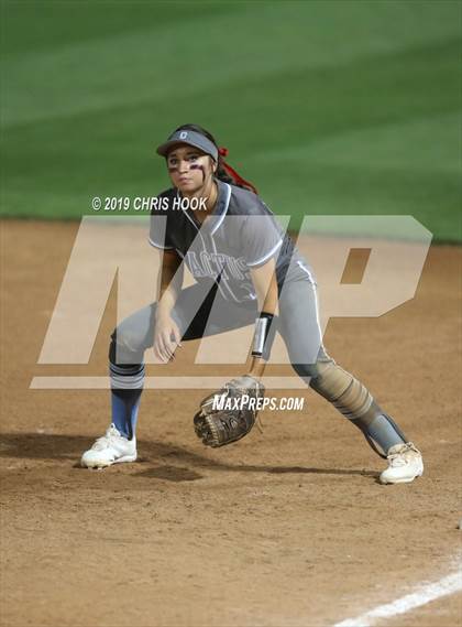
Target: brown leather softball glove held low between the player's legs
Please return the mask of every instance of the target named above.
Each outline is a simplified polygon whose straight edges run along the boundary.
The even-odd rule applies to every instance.
[[[200,402],[194,429],[207,446],[224,446],[246,435],[258,413],[257,400],[264,386],[251,375],[232,379]]]

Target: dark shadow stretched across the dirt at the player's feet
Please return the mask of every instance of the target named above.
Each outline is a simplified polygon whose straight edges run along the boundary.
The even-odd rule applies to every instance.
[[[0,436],[0,457],[29,460],[72,460],[79,466],[81,453],[92,443],[84,435],[52,433],[3,433]],[[362,475],[377,477],[374,471],[342,468],[315,468],[306,466],[268,466],[228,464],[188,451],[168,442],[139,442],[140,462],[158,464],[136,473],[136,477],[156,478],[169,482],[193,482],[202,478],[196,469],[235,473],[270,474],[316,474],[316,475]],[[209,452],[210,454],[210,452]],[[219,455],[219,453],[217,453]],[[193,468],[191,468],[193,467]]]

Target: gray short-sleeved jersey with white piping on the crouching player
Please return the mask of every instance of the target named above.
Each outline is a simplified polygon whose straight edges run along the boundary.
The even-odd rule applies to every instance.
[[[294,256],[301,259],[274,214],[253,192],[216,180],[215,210],[200,223],[199,209],[179,208],[176,188],[161,194],[151,213],[150,242],[175,250],[196,281],[215,281],[222,296],[233,302],[256,300],[251,268],[276,260],[276,277],[284,282]]]

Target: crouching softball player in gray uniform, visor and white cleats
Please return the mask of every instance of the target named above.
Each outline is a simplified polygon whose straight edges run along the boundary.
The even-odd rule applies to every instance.
[[[151,215],[150,242],[164,251],[161,295],[158,302],[122,321],[111,335],[112,420],[106,434],[84,453],[81,464],[102,468],[136,460],[135,426],[147,348],[168,361],[182,340],[255,324],[251,368],[231,387],[261,392],[277,331],[295,371],[387,458],[380,480],[408,483],[420,476],[424,464],[416,446],[364,385],[327,354],[312,270],[255,188],[224,161],[226,149],[219,149],[201,127],[185,125],[157,153],[166,159],[173,184],[158,196],[167,210],[153,209]],[[193,198],[207,199],[204,210],[193,210],[187,203],[182,205],[186,208],[175,208],[175,203],[177,207]],[[189,288],[183,288],[184,263],[196,279]],[[207,432],[207,424],[195,419],[204,442],[221,445],[242,437],[253,422],[240,430],[231,421],[222,433],[213,425]]]

